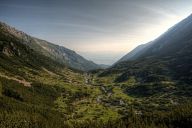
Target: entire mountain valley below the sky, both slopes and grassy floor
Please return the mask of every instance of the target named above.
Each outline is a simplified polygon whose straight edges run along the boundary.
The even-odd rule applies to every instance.
[[[191,21],[107,69],[1,23],[0,127],[190,128]]]

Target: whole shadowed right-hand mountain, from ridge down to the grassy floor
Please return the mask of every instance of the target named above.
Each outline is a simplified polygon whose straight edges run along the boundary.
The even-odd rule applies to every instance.
[[[121,74],[117,81],[135,76],[146,80],[192,82],[192,15],[151,43],[138,46],[102,75]]]

